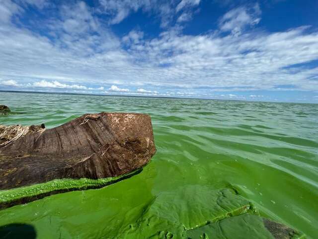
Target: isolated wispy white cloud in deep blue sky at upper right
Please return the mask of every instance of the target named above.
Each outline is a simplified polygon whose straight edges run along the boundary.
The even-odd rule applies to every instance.
[[[234,35],[241,34],[247,26],[253,26],[260,21],[261,11],[258,3],[253,7],[238,7],[227,12],[219,21],[222,31],[231,31]]]

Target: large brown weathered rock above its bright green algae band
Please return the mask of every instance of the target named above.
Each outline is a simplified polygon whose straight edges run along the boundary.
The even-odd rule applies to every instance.
[[[86,114],[0,146],[0,190],[118,177],[146,165],[155,152],[150,116]]]

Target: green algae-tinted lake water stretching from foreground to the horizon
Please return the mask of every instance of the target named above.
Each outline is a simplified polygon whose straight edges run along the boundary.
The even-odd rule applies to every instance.
[[[30,224],[39,239],[144,235],[144,217],[150,231],[195,227],[213,214],[213,193],[234,187],[262,216],[318,238],[318,105],[4,92],[0,104],[13,112],[0,124],[150,114],[157,147],[140,174],[2,210],[0,226]]]

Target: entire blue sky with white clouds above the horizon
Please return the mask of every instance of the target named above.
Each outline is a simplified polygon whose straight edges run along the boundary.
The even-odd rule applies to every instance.
[[[318,103],[318,0],[0,0],[0,90]]]

